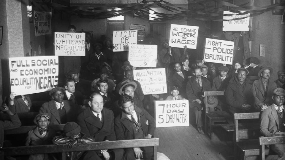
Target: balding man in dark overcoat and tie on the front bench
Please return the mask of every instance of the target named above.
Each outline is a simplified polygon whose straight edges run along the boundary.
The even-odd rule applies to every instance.
[[[77,123],[81,127],[81,132],[86,136],[92,136],[95,142],[116,140],[114,131],[113,112],[104,108],[104,100],[100,93],[92,93],[88,102],[89,106],[77,117]],[[121,160],[123,149],[90,151],[84,155],[84,159],[96,157],[95,159],[115,159]]]

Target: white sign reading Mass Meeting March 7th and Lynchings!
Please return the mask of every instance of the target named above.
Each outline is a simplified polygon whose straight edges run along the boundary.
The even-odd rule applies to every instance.
[[[167,93],[165,68],[134,70],[134,80],[140,82],[144,95]]]

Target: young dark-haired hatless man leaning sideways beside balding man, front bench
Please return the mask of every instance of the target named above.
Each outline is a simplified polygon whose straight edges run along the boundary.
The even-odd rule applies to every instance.
[[[153,117],[144,109],[136,107],[131,96],[122,95],[119,105],[123,112],[114,121],[117,140],[145,139],[154,135],[155,121]],[[146,120],[148,120],[148,126]],[[152,147],[124,149],[124,159],[126,160],[151,160],[153,156]]]

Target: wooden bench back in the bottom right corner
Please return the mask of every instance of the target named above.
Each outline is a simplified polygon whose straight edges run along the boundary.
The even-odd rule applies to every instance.
[[[259,137],[260,157],[265,160],[266,149],[265,145],[285,143],[285,135],[273,137]]]

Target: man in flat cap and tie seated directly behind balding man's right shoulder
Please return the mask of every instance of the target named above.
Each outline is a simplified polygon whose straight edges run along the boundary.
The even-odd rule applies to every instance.
[[[49,95],[52,100],[46,102],[39,109],[39,113],[48,113],[50,115],[50,124],[65,124],[66,122],[75,121],[80,106],[69,100],[64,100],[65,89],[55,87],[50,90]]]

